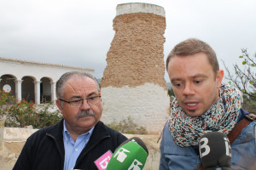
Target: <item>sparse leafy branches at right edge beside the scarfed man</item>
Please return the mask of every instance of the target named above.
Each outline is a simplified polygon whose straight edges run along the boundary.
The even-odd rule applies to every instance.
[[[241,49],[241,56],[242,59],[241,64],[239,66],[237,64],[233,65],[233,69],[235,74],[230,72],[229,68],[224,64],[225,70],[227,71],[226,78],[230,81],[230,83],[234,83],[236,88],[241,90],[243,94],[247,94],[250,99],[256,98],[256,54],[250,56],[247,53],[247,49]]]

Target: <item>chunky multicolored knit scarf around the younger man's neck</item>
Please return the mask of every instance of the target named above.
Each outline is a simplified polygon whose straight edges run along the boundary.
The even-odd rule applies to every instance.
[[[198,145],[198,138],[207,132],[230,133],[235,127],[241,103],[241,92],[224,83],[219,88],[218,102],[201,116],[187,116],[175,99],[168,121],[173,140],[179,146],[186,147]]]

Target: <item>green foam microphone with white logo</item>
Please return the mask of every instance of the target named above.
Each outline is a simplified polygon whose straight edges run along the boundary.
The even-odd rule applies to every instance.
[[[133,137],[120,144],[110,160],[106,170],[141,170],[148,157],[148,148],[142,139]]]

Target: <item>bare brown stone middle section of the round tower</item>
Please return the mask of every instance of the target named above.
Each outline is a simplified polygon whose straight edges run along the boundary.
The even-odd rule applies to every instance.
[[[113,20],[116,31],[108,51],[102,88],[137,87],[144,83],[166,89],[164,42],[166,19],[155,14],[123,14]]]

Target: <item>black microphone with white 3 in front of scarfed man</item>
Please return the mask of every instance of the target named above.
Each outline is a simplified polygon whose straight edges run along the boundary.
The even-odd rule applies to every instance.
[[[206,170],[230,170],[230,140],[224,133],[205,133],[199,140],[201,163]]]

